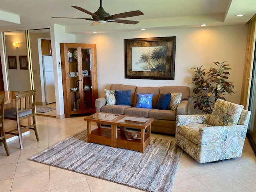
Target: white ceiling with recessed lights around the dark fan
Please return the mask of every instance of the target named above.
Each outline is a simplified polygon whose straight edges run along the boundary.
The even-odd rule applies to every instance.
[[[256,14],[256,0],[102,0],[102,7],[110,15],[134,10],[144,15],[124,18],[140,21],[135,25],[106,22],[90,26],[92,21],[84,19],[52,18],[92,18],[72,5],[96,12],[100,0],[0,0],[0,31],[45,28],[52,24],[66,26],[66,32],[71,34],[199,27],[200,24],[223,26],[246,24]],[[236,14],[244,16],[236,17]]]

